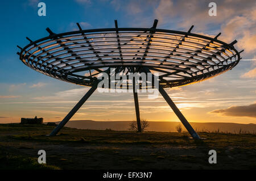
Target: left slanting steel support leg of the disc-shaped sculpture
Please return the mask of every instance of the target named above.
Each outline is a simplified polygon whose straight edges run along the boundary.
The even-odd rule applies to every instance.
[[[60,124],[57,125],[57,127],[55,129],[53,129],[53,131],[51,132],[51,134],[49,134],[49,136],[55,136],[61,128],[64,127],[65,124],[68,123],[68,121],[71,119],[71,117],[73,115],[75,115],[75,113],[79,110],[79,108],[82,106],[82,104],[85,103],[85,101],[90,97],[90,95],[92,95],[92,93],[97,89],[97,86],[92,86],[90,88],[90,90],[88,92],[86,92],[86,94],[82,97],[81,100],[79,100],[79,102],[76,104],[75,107],[73,107],[73,109],[68,113],[68,115],[66,117],[64,117],[64,119],[60,122]]]

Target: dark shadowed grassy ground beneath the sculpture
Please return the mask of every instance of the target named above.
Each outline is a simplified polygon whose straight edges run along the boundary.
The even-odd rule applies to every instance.
[[[256,169],[255,134],[95,131],[0,124],[0,169]],[[37,162],[46,150],[47,164]],[[217,151],[209,164],[208,151]]]

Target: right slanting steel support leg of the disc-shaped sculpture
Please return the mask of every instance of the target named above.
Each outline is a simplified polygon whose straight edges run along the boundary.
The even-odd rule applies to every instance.
[[[177,106],[174,104],[170,96],[164,91],[163,87],[159,85],[159,92],[162,94],[163,98],[166,99],[166,102],[170,105],[172,110],[174,110],[177,117],[179,117],[181,123],[184,125],[184,127],[187,129],[187,131],[191,134],[191,136],[195,139],[200,139],[199,135],[195,132],[195,130],[191,127],[191,125],[188,123],[187,119],[183,116],[183,114],[180,112],[180,110],[177,108]]]

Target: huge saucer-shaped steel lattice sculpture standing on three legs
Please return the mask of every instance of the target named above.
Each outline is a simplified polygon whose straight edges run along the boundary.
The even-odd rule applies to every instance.
[[[172,102],[164,88],[184,86],[189,83],[224,73],[240,61],[234,40],[227,44],[214,38],[188,32],[151,28],[102,28],[53,33],[30,41],[19,54],[28,67],[61,81],[90,86],[90,90],[51,132],[56,135],[97,89],[100,73],[158,73],[159,92],[170,105],[193,138],[200,138],[183,114]],[[111,72],[110,68],[115,68]],[[154,76],[154,75],[152,75]],[[138,82],[133,80],[133,85]],[[139,83],[142,85],[141,83]],[[141,86],[142,87],[142,86]],[[140,88],[141,88],[140,87]],[[138,131],[141,132],[137,91],[134,92]]]

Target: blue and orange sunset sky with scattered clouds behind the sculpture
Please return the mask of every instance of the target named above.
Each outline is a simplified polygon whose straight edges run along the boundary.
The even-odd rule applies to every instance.
[[[46,16],[38,16],[38,3],[46,3]],[[209,16],[209,2],[216,2],[217,16]],[[206,81],[166,89],[181,112],[192,122],[256,124],[256,1],[174,1],[174,0],[69,0],[2,1],[0,6],[0,123],[16,123],[20,117],[44,117],[60,121],[89,87],[47,77],[25,66],[16,52],[29,41],[55,33],[83,29],[152,27],[188,31],[231,43],[244,50],[232,70]],[[178,121],[159,95],[148,99],[139,93],[141,117],[148,121]],[[135,120],[132,93],[94,92],[72,120]]]

